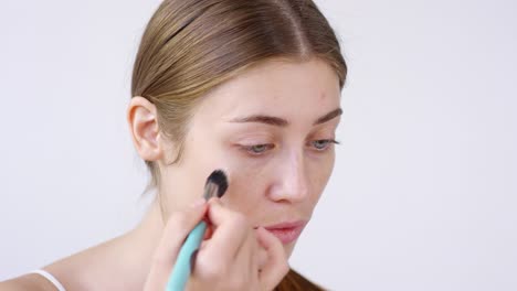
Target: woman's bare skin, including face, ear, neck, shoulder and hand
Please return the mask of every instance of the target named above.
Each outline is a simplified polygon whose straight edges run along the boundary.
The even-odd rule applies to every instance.
[[[264,62],[203,97],[182,158],[170,165],[177,144],[160,132],[155,106],[134,97],[130,133],[138,154],[160,169],[162,201],[129,233],[43,269],[67,290],[162,290],[184,237],[204,216],[211,234],[189,290],[273,289],[296,241],[283,245],[263,227],[310,219],[334,168],[328,140],[339,123],[339,100],[337,75],[325,62]],[[226,172],[230,186],[221,200],[199,202],[214,169]],[[35,274],[0,283],[0,290],[27,287],[54,290]]]

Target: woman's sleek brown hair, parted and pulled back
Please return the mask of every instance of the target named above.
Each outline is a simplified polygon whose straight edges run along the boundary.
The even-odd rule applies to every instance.
[[[143,35],[131,96],[155,104],[160,131],[179,144],[176,162],[192,109],[209,90],[266,60],[313,57],[335,69],[342,88],[347,65],[312,0],[165,0]],[[159,188],[158,166],[146,164],[148,188]],[[291,271],[277,290],[320,289]]]

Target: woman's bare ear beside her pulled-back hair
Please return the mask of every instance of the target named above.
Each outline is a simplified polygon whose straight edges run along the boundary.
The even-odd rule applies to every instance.
[[[145,161],[160,160],[163,149],[159,141],[156,106],[144,97],[133,97],[127,108],[127,122],[133,143],[140,158]]]

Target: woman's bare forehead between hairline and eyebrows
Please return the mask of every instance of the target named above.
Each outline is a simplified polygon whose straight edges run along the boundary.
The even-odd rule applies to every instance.
[[[263,114],[293,121],[315,118],[339,107],[339,79],[317,58],[303,63],[267,61],[242,72],[208,94],[198,112],[205,119],[230,120]]]

